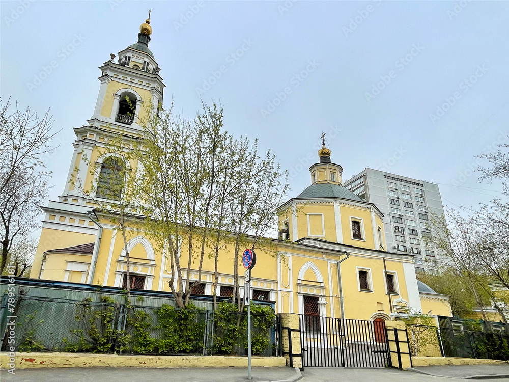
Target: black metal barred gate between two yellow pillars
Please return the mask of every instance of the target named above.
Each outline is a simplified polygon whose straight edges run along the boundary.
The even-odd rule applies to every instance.
[[[383,321],[300,315],[304,367],[387,367],[387,330]]]

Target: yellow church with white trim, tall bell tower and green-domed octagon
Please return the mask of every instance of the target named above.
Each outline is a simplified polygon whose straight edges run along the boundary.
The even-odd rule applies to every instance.
[[[149,24],[149,20],[142,24],[138,41],[120,51],[117,61],[112,54],[99,67],[94,114],[86,125],[74,128],[74,154],[64,192],[43,208],[32,278],[125,286],[122,235],[94,210],[94,199],[101,198],[100,184],[106,181],[101,175],[122,160],[104,154],[111,131],[136,136],[142,130],[137,121],[147,113],[143,105],[163,101],[163,80],[148,47]],[[129,113],[131,107],[134,115]],[[311,185],[279,207],[279,239],[271,240],[270,250],[256,249],[253,298],[275,302],[277,313],[362,320],[390,320],[414,311],[450,316],[448,298],[418,283],[413,256],[386,251],[382,213],[342,186],[343,168],[331,161],[331,155],[323,145],[318,162],[309,168]],[[100,174],[98,179],[92,170]],[[93,198],[73,187],[73,178],[81,184],[99,182]],[[131,287],[171,293],[171,268],[164,254],[143,232],[131,230],[129,235]],[[232,253],[219,256],[217,295],[229,296],[233,290]],[[184,256],[180,261],[187,268]],[[197,269],[191,268],[190,278],[196,280]],[[212,294],[213,271],[213,259],[205,257],[200,294]],[[244,275],[241,262],[238,273]],[[242,276],[239,283],[242,289]]]

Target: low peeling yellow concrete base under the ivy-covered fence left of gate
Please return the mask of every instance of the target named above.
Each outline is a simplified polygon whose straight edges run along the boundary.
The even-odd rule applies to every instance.
[[[0,353],[0,368],[11,369],[9,353]],[[284,357],[252,357],[253,367],[285,366]],[[37,367],[247,367],[247,357],[234,356],[118,356],[90,353],[16,353],[16,369]]]

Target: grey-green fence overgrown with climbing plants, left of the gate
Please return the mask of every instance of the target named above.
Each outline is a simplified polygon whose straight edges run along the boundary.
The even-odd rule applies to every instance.
[[[13,312],[7,312],[4,304],[2,310],[2,350],[12,335],[16,351],[247,355],[246,313],[215,315],[212,310],[171,305],[128,306],[111,299],[33,296],[19,296]],[[16,317],[15,333],[4,329],[7,316]],[[251,330],[253,354],[280,352],[275,320],[255,314]]]

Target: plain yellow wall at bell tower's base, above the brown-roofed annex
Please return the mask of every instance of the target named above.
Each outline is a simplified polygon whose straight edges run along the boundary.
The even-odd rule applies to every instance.
[[[57,248],[72,247],[73,245],[93,243],[95,239],[95,235],[43,228],[41,237],[39,238],[39,244],[37,245],[32,270],[30,271],[30,277],[35,279],[39,278],[44,252]],[[65,268],[66,267],[63,269]],[[51,274],[47,273],[47,275]],[[62,276],[61,279],[52,278],[51,280],[64,280],[64,278]]]

